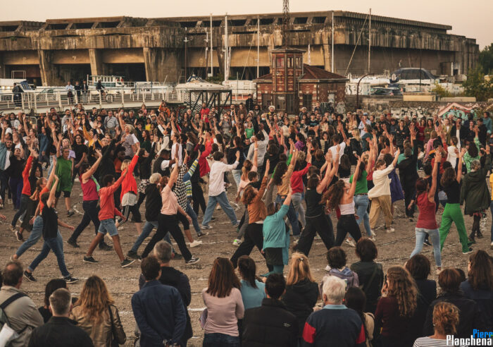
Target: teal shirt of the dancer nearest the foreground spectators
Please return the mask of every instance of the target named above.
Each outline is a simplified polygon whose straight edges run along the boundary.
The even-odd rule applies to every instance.
[[[267,216],[263,221],[263,249],[282,248],[282,262],[287,265],[289,261],[289,233],[286,232],[284,217],[289,210],[289,205],[282,205],[279,211]]]

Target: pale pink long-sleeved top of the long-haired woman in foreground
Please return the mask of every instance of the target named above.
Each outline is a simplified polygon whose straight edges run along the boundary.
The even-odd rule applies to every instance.
[[[238,319],[244,315],[242,293],[238,288],[232,288],[229,296],[218,298],[202,289],[202,298],[207,307],[207,320],[204,327],[206,334],[226,334],[239,336]]]

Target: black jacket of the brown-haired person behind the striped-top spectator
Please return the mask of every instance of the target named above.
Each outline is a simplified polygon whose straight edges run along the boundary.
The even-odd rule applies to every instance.
[[[484,315],[480,311],[478,304],[474,300],[468,299],[462,291],[457,293],[444,293],[433,301],[426,313],[425,325],[423,326],[423,336],[430,336],[433,334],[433,308],[437,303],[453,303],[457,306],[458,314],[458,327],[455,337],[458,339],[469,338],[473,334],[473,329],[479,329],[480,331],[487,331],[491,329],[488,327]]]

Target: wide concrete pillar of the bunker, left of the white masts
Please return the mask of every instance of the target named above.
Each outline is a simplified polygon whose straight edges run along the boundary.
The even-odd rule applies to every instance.
[[[180,53],[174,49],[142,48],[146,69],[146,80],[152,82],[177,83],[182,63]]]

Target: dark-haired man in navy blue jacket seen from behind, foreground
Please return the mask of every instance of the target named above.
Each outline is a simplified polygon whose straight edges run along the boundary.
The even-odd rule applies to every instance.
[[[132,296],[132,310],[141,332],[140,346],[180,343],[187,322],[180,293],[158,281],[161,266],[155,257],[144,258],[140,268],[146,283]]]

